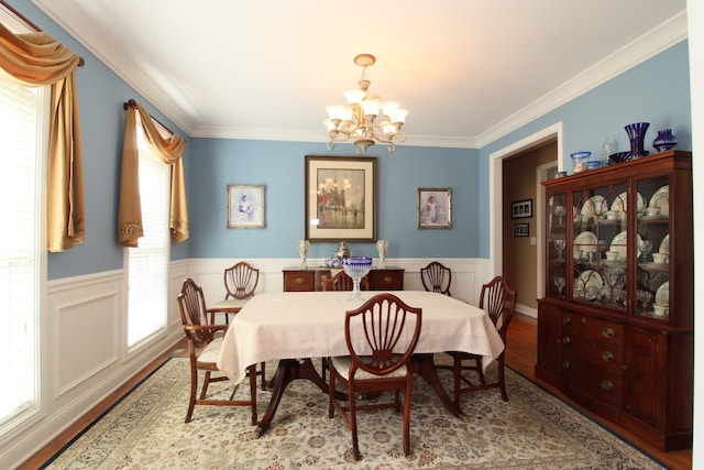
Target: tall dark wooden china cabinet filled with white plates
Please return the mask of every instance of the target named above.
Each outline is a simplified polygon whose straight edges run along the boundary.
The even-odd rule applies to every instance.
[[[536,375],[664,449],[692,446],[692,155],[544,182]]]

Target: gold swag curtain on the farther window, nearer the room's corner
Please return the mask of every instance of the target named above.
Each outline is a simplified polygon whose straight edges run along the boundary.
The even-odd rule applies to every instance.
[[[144,136],[152,150],[164,163],[172,166],[172,195],[169,227],[172,241],[180,243],[188,239],[188,208],[186,205],[186,181],[184,178],[183,154],[186,140],[172,134],[168,140],[154,125],[152,117],[142,105],[130,100],[124,122],[122,143],[122,173],[120,177],[120,212],[118,215],[118,242],[122,247],[134,248],[144,236],[142,206],[140,203],[139,149],[136,142],[136,116],[140,116]]]

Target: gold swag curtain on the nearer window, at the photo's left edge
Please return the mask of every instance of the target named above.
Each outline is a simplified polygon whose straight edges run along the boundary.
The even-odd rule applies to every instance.
[[[44,32],[14,34],[0,24],[0,68],[24,86],[52,87],[48,144],[47,249],[86,237],[82,150],[76,88],[80,57]]]

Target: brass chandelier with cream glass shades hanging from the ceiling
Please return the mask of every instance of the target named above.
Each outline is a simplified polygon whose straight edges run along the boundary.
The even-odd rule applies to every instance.
[[[396,150],[396,142],[404,142],[406,134],[400,128],[404,125],[408,110],[400,107],[398,101],[382,102],[376,95],[370,95],[371,81],[366,78],[366,67],[374,65],[376,58],[372,54],[360,54],[354,63],[362,67],[362,78],[359,88],[348,90],[344,96],[348,106],[329,106],[326,112],[329,118],[323,121],[328,128],[330,139],[328,150],[334,149],[336,143],[353,140],[356,153],[364,153],[375,142],[388,145],[388,151]],[[384,113],[386,120],[374,122]]]

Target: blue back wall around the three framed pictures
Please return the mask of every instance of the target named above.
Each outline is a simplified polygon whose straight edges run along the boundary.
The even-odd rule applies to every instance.
[[[389,258],[473,258],[479,254],[476,150],[402,145],[367,150],[377,157],[377,238]],[[305,238],[305,156],[352,155],[350,144],[194,139],[188,175],[191,258],[297,258]],[[227,185],[265,185],[266,227],[227,229]],[[452,188],[452,229],[418,229],[418,188]],[[334,243],[311,243],[328,258]],[[350,242],[354,254],[376,255],[373,243]]]

